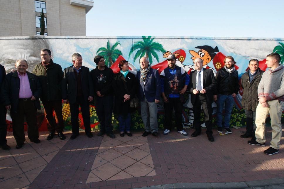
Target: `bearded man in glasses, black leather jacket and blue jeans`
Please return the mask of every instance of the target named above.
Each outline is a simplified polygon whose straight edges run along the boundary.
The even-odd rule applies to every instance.
[[[236,64],[232,56],[227,56],[224,59],[225,67],[218,70],[216,74],[217,95],[213,96],[217,104],[217,126],[218,132],[223,133],[224,129],[227,133],[232,133],[230,127],[231,113],[234,105],[234,98],[239,91],[239,73],[235,69]],[[223,107],[225,104],[224,122],[222,117]],[[223,122],[223,124],[222,124]]]

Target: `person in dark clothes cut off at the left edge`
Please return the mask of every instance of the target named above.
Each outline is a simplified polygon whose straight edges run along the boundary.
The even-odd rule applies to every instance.
[[[6,76],[6,71],[4,66],[0,64],[0,92],[1,87]],[[7,145],[7,124],[6,124],[6,114],[7,110],[4,104],[0,101],[0,148],[3,150],[10,150],[10,146]]]

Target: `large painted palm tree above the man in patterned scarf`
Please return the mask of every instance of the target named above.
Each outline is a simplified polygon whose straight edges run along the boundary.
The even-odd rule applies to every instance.
[[[153,57],[159,62],[159,57],[156,51],[165,53],[166,50],[163,48],[163,45],[157,42],[153,42],[155,37],[151,38],[152,36],[142,36],[143,41],[137,41],[133,44],[133,47],[131,48],[128,57],[137,50],[135,56],[134,56],[134,62],[135,60],[140,57],[146,55],[146,57],[149,58],[150,64],[152,63]]]

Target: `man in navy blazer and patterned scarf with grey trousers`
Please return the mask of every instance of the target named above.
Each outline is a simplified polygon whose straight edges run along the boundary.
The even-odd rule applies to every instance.
[[[138,98],[141,104],[141,117],[145,126],[145,132],[142,136],[152,133],[158,136],[158,107],[160,102],[161,86],[159,73],[149,66],[149,59],[142,57],[140,59],[140,70],[137,72]]]

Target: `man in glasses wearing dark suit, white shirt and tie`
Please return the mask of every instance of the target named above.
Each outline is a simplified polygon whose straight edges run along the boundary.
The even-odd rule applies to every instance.
[[[216,87],[216,79],[211,69],[205,69],[203,66],[203,60],[196,58],[194,60],[195,70],[190,72],[190,92],[191,92],[191,103],[193,105],[193,126],[195,131],[191,136],[196,137],[201,134],[200,126],[200,113],[201,107],[204,112],[204,122],[207,127],[208,140],[213,142],[212,136],[212,102],[213,92]]]

